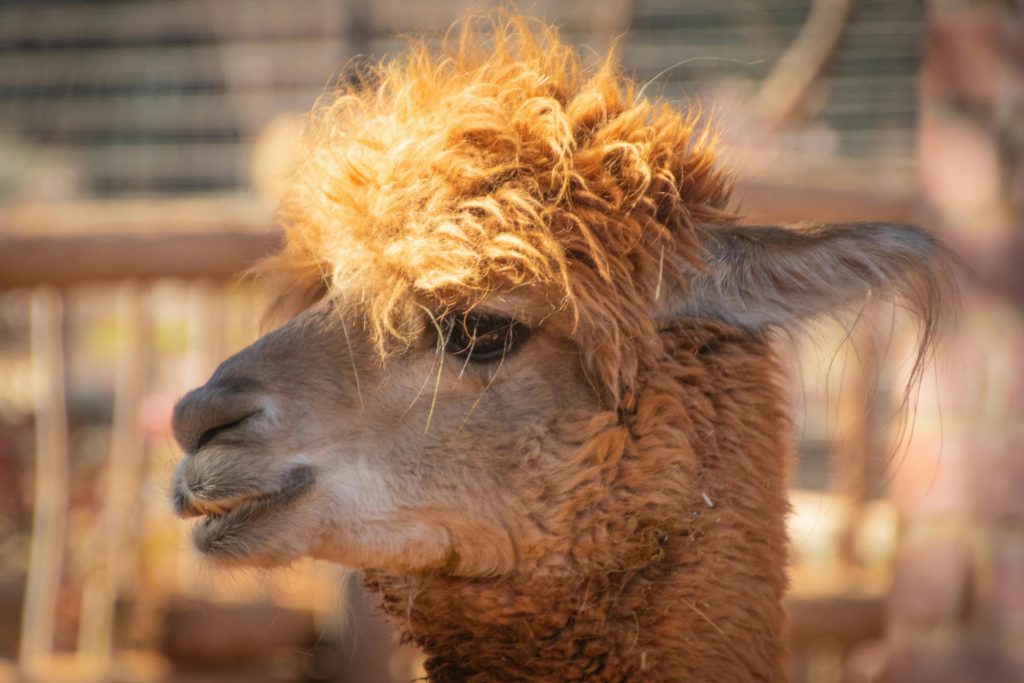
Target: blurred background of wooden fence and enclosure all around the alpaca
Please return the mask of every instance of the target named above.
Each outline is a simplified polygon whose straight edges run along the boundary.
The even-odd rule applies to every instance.
[[[261,332],[239,273],[276,244],[297,116],[348,60],[468,7],[0,1],[0,681],[421,675],[336,567],[195,556],[169,415]],[[891,312],[782,345],[791,678],[1024,681],[1024,6],[522,10],[585,58],[618,39],[649,95],[700,102],[751,222],[912,222],[961,254],[963,309],[909,430],[906,357],[879,350]]]

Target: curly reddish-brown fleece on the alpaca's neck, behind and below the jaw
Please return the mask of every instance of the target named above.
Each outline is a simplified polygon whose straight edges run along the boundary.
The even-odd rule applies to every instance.
[[[723,326],[663,338],[635,408],[567,417],[572,462],[538,472],[534,507],[564,507],[571,530],[550,531],[569,565],[367,573],[431,680],[783,679],[792,446],[770,350]]]

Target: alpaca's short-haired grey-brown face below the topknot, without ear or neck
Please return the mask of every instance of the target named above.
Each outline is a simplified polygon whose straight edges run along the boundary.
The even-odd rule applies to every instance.
[[[524,494],[577,447],[564,423],[598,411],[570,322],[497,299],[471,315],[414,306],[413,343],[382,359],[344,306],[322,301],[177,405],[186,458],[173,496],[201,517],[197,547],[260,565],[311,555],[479,574],[528,562],[559,520]]]

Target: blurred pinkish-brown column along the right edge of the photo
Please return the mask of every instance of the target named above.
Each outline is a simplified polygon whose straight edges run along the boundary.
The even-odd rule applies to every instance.
[[[926,40],[922,186],[967,267],[895,459],[885,680],[1024,681],[1024,7],[931,0]]]

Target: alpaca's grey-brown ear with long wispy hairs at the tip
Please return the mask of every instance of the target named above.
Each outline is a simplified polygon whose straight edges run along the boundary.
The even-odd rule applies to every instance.
[[[707,267],[690,268],[687,291],[670,295],[656,317],[763,331],[896,295],[931,328],[951,289],[947,252],[909,225],[716,226],[703,247]]]

